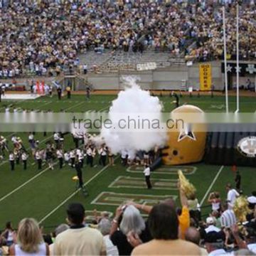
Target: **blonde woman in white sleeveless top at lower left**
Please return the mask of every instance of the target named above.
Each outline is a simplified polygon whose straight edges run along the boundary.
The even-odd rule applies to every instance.
[[[33,218],[24,218],[18,224],[17,244],[11,245],[10,255],[49,255],[49,247],[43,242],[38,223]]]

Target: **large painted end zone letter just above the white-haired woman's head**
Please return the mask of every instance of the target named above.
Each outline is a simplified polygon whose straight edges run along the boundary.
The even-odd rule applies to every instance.
[[[158,196],[158,195],[146,195],[146,194],[133,194],[133,193],[114,193],[114,192],[102,192],[100,193],[91,204],[103,205],[103,206],[120,206],[127,201],[133,201],[134,203],[144,204],[147,206],[154,206],[157,203],[161,203],[169,198],[176,200],[177,196]]]

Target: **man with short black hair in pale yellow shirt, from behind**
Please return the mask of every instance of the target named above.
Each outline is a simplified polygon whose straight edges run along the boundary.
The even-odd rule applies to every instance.
[[[70,203],[67,214],[70,228],[56,238],[54,255],[106,255],[103,235],[99,230],[85,227],[82,204]]]

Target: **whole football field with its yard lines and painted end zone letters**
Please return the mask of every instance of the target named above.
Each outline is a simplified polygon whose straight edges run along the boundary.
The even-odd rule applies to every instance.
[[[10,110],[22,111],[48,111],[60,112],[88,112],[107,111],[117,95],[92,95],[90,100],[85,95],[72,95],[72,99],[58,101],[57,97],[40,97],[36,100],[4,101],[0,103],[0,112],[8,106]],[[164,112],[171,112],[174,109],[174,98],[168,95],[159,97],[164,106]],[[255,97],[240,97],[241,112],[255,112]],[[193,104],[201,107],[206,112],[224,112],[224,96],[201,96],[189,97],[183,95],[181,104]],[[230,111],[235,111],[235,97],[230,97]],[[9,140],[13,133],[1,133]],[[28,134],[17,133],[23,139],[23,144],[28,148]],[[44,137],[36,133],[41,146],[53,139],[53,134],[48,133]],[[65,135],[65,149],[74,146],[70,134]],[[76,190],[76,182],[73,181],[75,170],[70,166],[58,168],[55,162],[55,169],[50,170],[46,164],[38,171],[37,165],[28,159],[28,169],[16,165],[15,171],[10,170],[8,156],[0,161],[0,230],[4,228],[6,221],[11,220],[14,227],[24,217],[33,217],[46,227],[46,230],[65,222],[65,208],[73,201],[82,202],[85,205],[87,215],[92,215],[90,210],[108,210],[114,212],[119,204],[125,201],[136,201],[154,205],[159,201],[173,196],[178,203],[178,191],[176,181],[178,169],[183,170],[186,177],[196,186],[197,198],[202,206],[206,206],[208,193],[220,191],[221,198],[225,199],[225,183],[234,181],[235,174],[230,166],[209,166],[203,163],[191,164],[189,166],[161,166],[151,175],[153,188],[148,190],[144,182],[142,167],[131,166],[127,168],[120,164],[119,156],[115,156],[114,166],[98,164],[95,158],[95,167],[84,166],[83,179],[89,192],[85,197],[81,191]],[[242,190],[249,194],[255,189],[255,168],[239,167],[242,176]],[[210,208],[203,208],[203,213],[208,213]],[[88,216],[90,218],[90,216]]]

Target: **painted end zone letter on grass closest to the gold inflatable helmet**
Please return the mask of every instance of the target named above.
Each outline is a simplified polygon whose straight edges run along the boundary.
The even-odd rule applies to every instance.
[[[181,170],[185,175],[191,175],[196,172],[195,166],[160,166],[154,171],[151,171],[151,174],[174,174],[178,175],[178,170]],[[144,171],[144,166],[129,166],[127,171],[130,173],[142,174]]]

